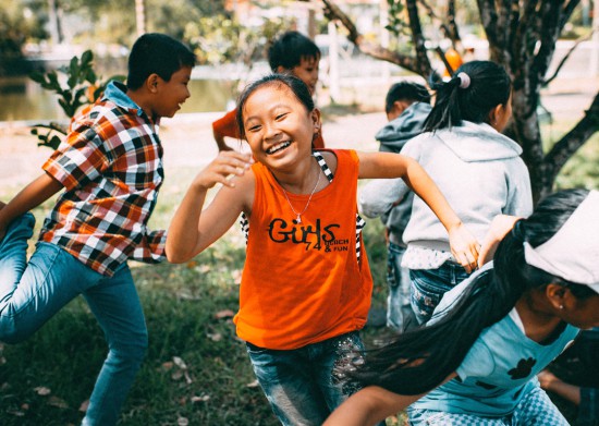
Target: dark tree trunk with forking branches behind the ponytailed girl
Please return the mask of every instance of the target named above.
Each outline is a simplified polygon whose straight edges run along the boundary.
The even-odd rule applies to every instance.
[[[314,0],[313,0],[314,1]],[[383,48],[366,40],[352,19],[334,1],[321,0],[325,14],[347,31],[347,38],[366,54],[395,63],[428,78],[432,71],[427,37],[429,29],[441,32],[460,46],[455,22],[456,2],[448,0],[443,9],[426,0],[387,0],[388,29],[404,37],[411,51]],[[478,17],[489,42],[489,59],[502,64],[513,82],[513,119],[508,132],[523,147],[523,159],[530,172],[535,200],[552,191],[555,178],[566,161],[599,130],[599,93],[585,114],[546,151],[537,107],[541,88],[553,78],[549,68],[560,35],[579,0],[477,0]],[[439,51],[438,53],[442,53]],[[442,54],[441,54],[442,57]],[[558,70],[559,71],[559,70]]]

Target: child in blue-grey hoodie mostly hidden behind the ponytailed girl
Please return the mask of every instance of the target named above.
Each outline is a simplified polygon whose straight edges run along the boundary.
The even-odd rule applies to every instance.
[[[421,84],[400,82],[393,84],[384,99],[389,122],[376,134],[379,150],[400,153],[407,141],[423,133],[430,112],[430,94]],[[415,318],[409,306],[409,270],[401,266],[406,245],[403,231],[412,211],[411,191],[381,215],[387,231],[387,326],[404,330]]]

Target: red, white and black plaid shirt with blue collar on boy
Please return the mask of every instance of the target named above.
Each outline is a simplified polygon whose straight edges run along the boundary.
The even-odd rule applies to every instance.
[[[158,126],[125,90],[111,83],[44,165],[65,191],[40,240],[109,277],[129,258],[164,258],[166,232],[146,228],[164,177]]]

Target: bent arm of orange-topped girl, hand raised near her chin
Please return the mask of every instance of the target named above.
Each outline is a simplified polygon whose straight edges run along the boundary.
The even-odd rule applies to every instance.
[[[227,232],[243,208],[252,205],[254,178],[246,173],[250,165],[252,157],[247,154],[221,151],[197,174],[167,233],[169,261],[190,260]],[[203,211],[206,194],[217,183],[223,187]]]

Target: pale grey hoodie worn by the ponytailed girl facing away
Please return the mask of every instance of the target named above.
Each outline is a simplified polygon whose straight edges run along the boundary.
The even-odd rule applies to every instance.
[[[497,215],[533,212],[530,178],[521,154],[518,144],[490,125],[467,121],[452,130],[424,133],[402,149],[430,174],[479,242]],[[367,217],[381,216],[408,191],[401,179],[374,180],[360,191],[360,210]],[[408,248],[450,251],[447,230],[419,197],[414,197],[403,241]]]

